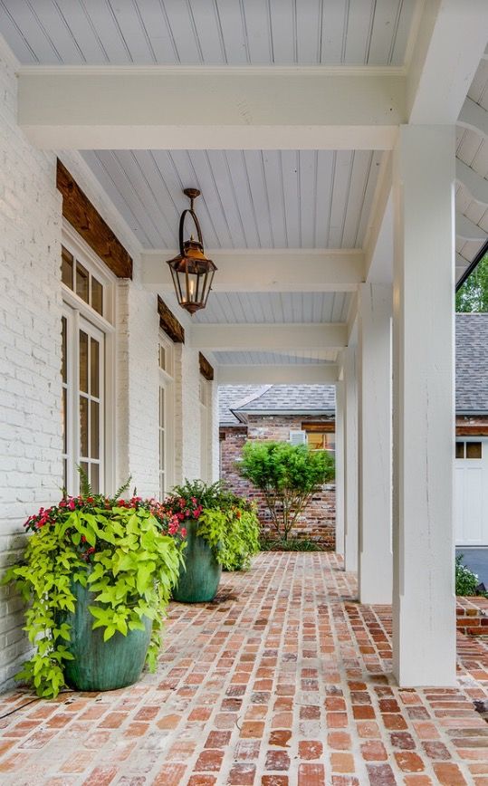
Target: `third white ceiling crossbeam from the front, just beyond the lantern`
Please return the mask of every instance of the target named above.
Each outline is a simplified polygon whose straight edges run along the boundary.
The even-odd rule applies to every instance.
[[[194,350],[339,350],[347,346],[347,326],[327,324],[199,324],[188,335]]]

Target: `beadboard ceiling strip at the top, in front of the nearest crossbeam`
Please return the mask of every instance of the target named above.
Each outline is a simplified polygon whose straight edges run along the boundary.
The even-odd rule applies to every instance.
[[[402,65],[416,0],[0,0],[24,63]]]

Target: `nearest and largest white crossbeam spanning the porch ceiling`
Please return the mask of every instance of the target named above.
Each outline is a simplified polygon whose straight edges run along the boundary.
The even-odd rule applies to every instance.
[[[403,70],[24,66],[18,122],[42,149],[389,149]]]

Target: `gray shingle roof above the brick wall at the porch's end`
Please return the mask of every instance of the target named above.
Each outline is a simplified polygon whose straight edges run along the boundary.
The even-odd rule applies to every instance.
[[[218,392],[221,426],[239,422],[231,409],[242,415],[326,415],[335,410],[333,385],[265,385],[260,388],[223,385]]]

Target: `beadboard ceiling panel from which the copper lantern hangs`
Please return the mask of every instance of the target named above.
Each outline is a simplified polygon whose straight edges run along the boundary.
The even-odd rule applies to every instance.
[[[207,248],[359,248],[380,151],[98,150],[82,156],[146,248],[177,248],[198,187]],[[191,223],[188,221],[191,230]]]

